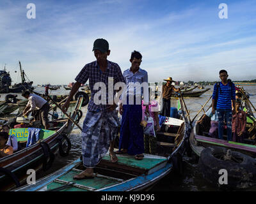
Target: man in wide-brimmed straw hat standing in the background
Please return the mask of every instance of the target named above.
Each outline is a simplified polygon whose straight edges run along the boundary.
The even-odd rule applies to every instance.
[[[179,92],[180,88],[176,89],[174,85],[172,85],[172,82],[175,82],[172,80],[172,77],[168,77],[164,79],[164,81],[166,81],[166,84],[163,85],[163,108],[161,108],[160,115],[170,117],[172,91]]]

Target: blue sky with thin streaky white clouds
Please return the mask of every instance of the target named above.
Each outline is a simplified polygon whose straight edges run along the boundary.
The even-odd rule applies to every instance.
[[[27,18],[29,3],[36,18]],[[74,82],[95,61],[97,38],[108,40],[108,60],[122,71],[141,52],[148,82],[216,81],[220,69],[232,80],[256,78],[255,0],[0,1],[0,69],[6,64],[13,84],[19,61],[34,85]]]

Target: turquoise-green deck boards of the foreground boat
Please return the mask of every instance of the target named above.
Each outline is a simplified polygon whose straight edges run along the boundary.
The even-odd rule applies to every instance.
[[[124,174],[127,173],[130,175],[129,178],[132,180],[138,175],[154,173],[166,166],[167,163],[166,157],[152,156],[150,154],[145,154],[143,160],[136,160],[134,159],[134,156],[129,156],[128,154],[120,154],[117,156],[118,163],[116,164],[110,162],[108,154],[99,164],[100,168],[111,168],[111,170],[113,170],[111,175],[106,176],[98,173],[94,179],[74,180],[74,175],[80,173],[82,170],[72,168],[72,170],[61,175],[61,177],[58,177],[54,182],[47,185],[47,191],[65,186],[65,184],[70,184],[70,182],[72,182],[72,184],[61,191],[97,191],[102,188],[108,188],[109,186],[115,186],[116,184],[127,182],[125,179],[116,178],[115,171],[118,173],[121,171]],[[97,169],[95,171],[97,171]],[[131,173],[133,173],[133,175]]]

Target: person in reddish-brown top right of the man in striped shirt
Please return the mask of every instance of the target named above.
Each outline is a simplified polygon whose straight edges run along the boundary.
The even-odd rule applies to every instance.
[[[241,110],[241,100],[236,99],[236,113],[232,115],[232,140],[243,143],[246,127],[246,113]]]

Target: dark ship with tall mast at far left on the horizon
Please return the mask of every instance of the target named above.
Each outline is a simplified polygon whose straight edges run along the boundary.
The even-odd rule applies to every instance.
[[[20,66],[20,76],[21,76],[21,83],[19,84],[12,85],[12,78],[10,77],[10,73],[6,72],[5,66],[4,66],[4,70],[0,70],[0,93],[20,93],[24,90],[34,89],[34,87],[32,87],[33,82],[26,82],[26,79],[25,79],[26,74],[24,70],[21,68],[20,61],[19,61],[19,66]]]

